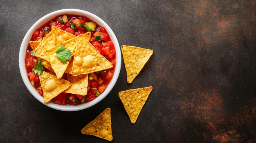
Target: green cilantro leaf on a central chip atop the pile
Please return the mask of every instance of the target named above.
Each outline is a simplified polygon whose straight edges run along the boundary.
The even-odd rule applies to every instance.
[[[65,62],[67,62],[70,57],[71,57],[71,51],[68,49],[68,50],[65,50],[65,46],[59,46],[57,48],[57,51],[55,52],[56,53],[56,56],[58,57],[58,59],[61,60],[61,62],[63,64],[65,64]],[[64,51],[65,50],[65,51]]]

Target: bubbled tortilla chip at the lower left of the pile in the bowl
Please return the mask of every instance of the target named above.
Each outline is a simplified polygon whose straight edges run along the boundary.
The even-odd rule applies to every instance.
[[[44,102],[47,103],[70,86],[70,82],[58,79],[45,71],[39,75],[40,84],[43,89]]]

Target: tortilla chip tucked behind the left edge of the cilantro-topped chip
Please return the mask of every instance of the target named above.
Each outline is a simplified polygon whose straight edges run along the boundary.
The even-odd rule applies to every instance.
[[[38,47],[34,50],[35,56],[48,61],[46,50],[53,46],[55,46],[55,35],[51,31],[45,36],[45,38],[43,38],[42,42],[40,42]]]

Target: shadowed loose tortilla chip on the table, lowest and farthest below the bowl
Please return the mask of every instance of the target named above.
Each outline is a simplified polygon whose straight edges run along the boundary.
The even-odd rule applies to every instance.
[[[101,139],[112,141],[111,116],[110,108],[104,110],[99,116],[86,125],[82,130],[82,134],[97,136]]]

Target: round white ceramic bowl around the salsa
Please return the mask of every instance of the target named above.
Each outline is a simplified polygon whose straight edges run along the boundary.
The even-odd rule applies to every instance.
[[[115,67],[115,73],[114,73],[114,76],[113,76],[112,80],[108,84],[108,87],[106,88],[106,90],[99,97],[95,98],[94,100],[92,100],[90,102],[87,102],[87,103],[77,105],[77,106],[58,105],[58,104],[54,104],[54,103],[44,103],[43,97],[41,97],[38,94],[36,89],[29,82],[29,79],[27,77],[27,71],[26,71],[26,68],[25,68],[26,49],[27,49],[27,46],[29,44],[29,41],[31,40],[33,32],[36,29],[43,26],[44,24],[46,24],[47,22],[49,22],[49,20],[52,20],[56,16],[63,15],[63,14],[83,15],[83,16],[89,18],[90,20],[93,20],[94,22],[96,22],[100,26],[105,27],[105,29],[108,31],[108,34],[110,35],[110,38],[111,38],[112,42],[115,45],[115,50],[116,50],[116,60],[117,60],[117,62],[116,62],[116,67]],[[118,44],[118,41],[117,41],[117,37],[115,36],[113,31],[110,29],[108,24],[106,24],[106,22],[101,20],[101,18],[99,18],[98,16],[96,16],[96,15],[90,13],[90,12],[79,10],[79,9],[62,9],[62,10],[58,10],[58,11],[54,11],[52,13],[49,13],[49,14],[45,15],[43,18],[40,18],[33,26],[31,26],[29,31],[27,31],[27,34],[25,35],[25,37],[22,41],[22,44],[20,46],[19,66],[20,66],[20,74],[21,74],[22,80],[24,81],[25,85],[27,86],[27,89],[29,90],[29,92],[34,97],[36,97],[36,99],[38,101],[40,101],[41,103],[45,104],[46,106],[48,106],[50,108],[56,109],[56,110],[78,111],[78,110],[83,110],[83,109],[89,108],[89,107],[95,105],[96,103],[98,103],[99,101],[101,101],[103,98],[105,98],[108,95],[108,93],[115,86],[115,84],[117,82],[117,79],[118,79],[118,76],[119,76],[119,73],[120,73],[120,69],[121,69],[121,51],[120,51],[120,47],[119,47],[119,44]]]

